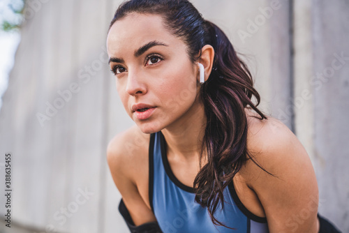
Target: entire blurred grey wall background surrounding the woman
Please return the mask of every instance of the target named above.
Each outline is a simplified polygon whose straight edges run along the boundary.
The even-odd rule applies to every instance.
[[[106,162],[133,125],[105,50],[121,2],[0,0],[0,232],[128,232]],[[349,232],[349,1],[191,2],[244,54],[261,110],[311,157],[319,213]]]

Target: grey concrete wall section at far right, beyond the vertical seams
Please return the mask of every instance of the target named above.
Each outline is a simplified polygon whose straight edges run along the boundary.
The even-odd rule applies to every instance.
[[[313,141],[320,210],[349,232],[349,1],[314,0],[312,15]]]

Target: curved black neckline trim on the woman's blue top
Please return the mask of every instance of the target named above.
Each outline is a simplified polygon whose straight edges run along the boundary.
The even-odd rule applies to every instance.
[[[170,163],[168,163],[168,156],[166,153],[166,140],[165,137],[163,136],[163,133],[161,133],[161,131],[158,132],[158,135],[160,136],[160,144],[161,144],[161,158],[163,159],[163,167],[165,168],[165,172],[166,174],[168,174],[168,177],[170,178],[170,180],[179,188],[181,188],[182,190],[188,192],[188,193],[195,193],[194,188],[186,186],[184,183],[181,183],[181,181],[179,181],[177,179],[176,176],[174,176],[171,167],[170,167]]]

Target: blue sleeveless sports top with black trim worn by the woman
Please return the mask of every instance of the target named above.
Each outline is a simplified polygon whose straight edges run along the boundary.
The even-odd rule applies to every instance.
[[[161,131],[152,133],[149,142],[149,203],[158,225],[166,233],[173,232],[269,232],[267,218],[248,211],[237,196],[234,183],[225,188],[224,208],[218,204],[214,216],[228,227],[214,225],[206,208],[195,202],[193,188],[174,176],[166,154],[165,137]]]

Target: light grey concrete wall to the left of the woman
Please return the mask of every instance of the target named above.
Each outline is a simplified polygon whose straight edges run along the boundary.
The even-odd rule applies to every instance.
[[[125,232],[105,158],[117,128],[117,121],[108,123],[115,116],[110,108],[121,110],[110,94],[105,52],[117,3],[27,4],[34,14],[23,26],[0,113],[1,153],[13,155],[13,224],[43,232]],[[38,113],[47,117],[41,123]],[[0,200],[4,206],[3,195]],[[0,231],[11,232],[3,220]]]

